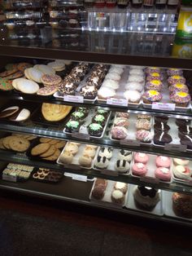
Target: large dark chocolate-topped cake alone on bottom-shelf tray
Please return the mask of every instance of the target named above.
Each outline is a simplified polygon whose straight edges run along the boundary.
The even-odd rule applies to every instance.
[[[145,210],[153,210],[160,201],[158,190],[144,186],[134,188],[133,197],[137,207]]]

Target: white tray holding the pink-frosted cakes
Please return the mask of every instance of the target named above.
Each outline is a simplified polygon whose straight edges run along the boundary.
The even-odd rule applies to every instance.
[[[133,155],[133,161],[131,161],[131,166],[130,166],[130,174],[133,176],[133,177],[136,177],[138,179],[141,179],[142,181],[144,182],[149,182],[149,183],[172,183],[172,175],[171,175],[171,181],[163,181],[163,180],[160,180],[160,179],[157,179],[155,177],[155,170],[157,169],[157,166],[155,164],[155,159],[156,155],[148,155],[149,156],[149,161],[148,163],[146,164],[146,167],[147,167],[147,172],[146,172],[146,176],[144,177],[141,177],[141,176],[137,176],[137,175],[134,175],[133,172],[132,172],[132,167],[133,167],[133,164],[134,164],[134,155]],[[171,158],[171,157],[170,157]],[[172,158],[171,158],[171,166],[170,166],[170,172],[172,174]]]

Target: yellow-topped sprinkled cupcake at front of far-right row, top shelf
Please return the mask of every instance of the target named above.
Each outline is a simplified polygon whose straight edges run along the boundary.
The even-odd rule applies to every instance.
[[[183,91],[177,91],[170,95],[170,99],[177,107],[186,107],[190,103],[190,94]]]

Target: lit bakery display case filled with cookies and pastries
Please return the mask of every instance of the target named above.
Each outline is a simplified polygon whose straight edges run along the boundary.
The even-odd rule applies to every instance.
[[[1,25],[0,188],[191,227],[190,39],[47,10],[36,38]]]

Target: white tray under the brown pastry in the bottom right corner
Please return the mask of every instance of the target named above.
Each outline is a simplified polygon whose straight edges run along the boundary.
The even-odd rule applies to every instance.
[[[192,218],[183,218],[177,216],[172,210],[172,192],[163,191],[163,201],[164,201],[164,214],[168,217],[179,218],[185,221],[192,221]]]

